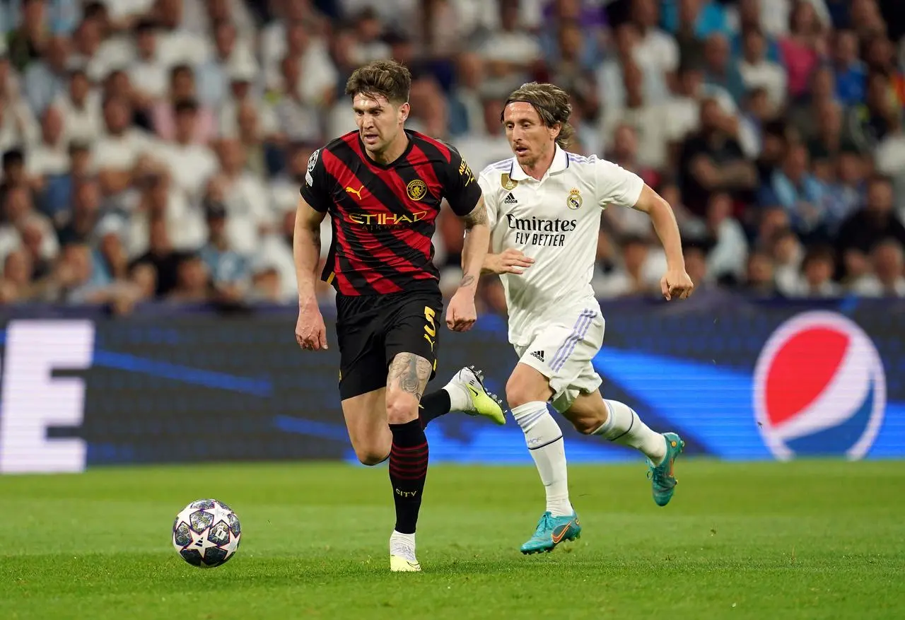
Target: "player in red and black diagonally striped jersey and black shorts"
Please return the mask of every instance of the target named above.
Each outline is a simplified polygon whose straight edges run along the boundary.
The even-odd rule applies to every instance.
[[[424,394],[436,370],[443,313],[431,243],[442,201],[473,242],[462,253],[462,281],[446,310],[453,331],[471,329],[477,318],[474,295],[490,229],[481,187],[456,149],[404,129],[410,86],[411,74],[397,62],[371,62],[352,73],[346,94],[358,129],[311,155],[293,241],[296,339],[303,349],[326,349],[314,284],[320,223],[329,213],[333,240],[321,277],[337,291],[339,396],[358,459],[366,465],[389,459],[395,572],[421,570],[414,530],[427,475],[424,426],[450,411],[505,422],[473,367]]]

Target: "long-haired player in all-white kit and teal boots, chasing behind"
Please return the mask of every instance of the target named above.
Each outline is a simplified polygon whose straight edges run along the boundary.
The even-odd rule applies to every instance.
[[[500,274],[509,338],[519,355],[506,397],[547,491],[547,510],[522,553],[550,551],[581,532],[568,496],[562,431],[548,403],[580,433],[641,451],[660,506],[672,499],[672,464],[684,447],[679,435],[653,432],[630,406],[598,391],[592,360],[603,345],[605,322],[590,283],[600,216],[615,205],[650,215],[668,264],[663,296],[688,297],[694,287],[679,227],[670,205],[639,176],[563,149],[572,133],[571,110],[567,93],[552,84],[531,82],[513,91],[501,120],[515,157],[484,168],[478,179],[491,224],[483,272]]]

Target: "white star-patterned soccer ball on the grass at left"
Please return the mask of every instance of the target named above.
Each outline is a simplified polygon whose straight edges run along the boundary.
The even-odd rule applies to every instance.
[[[173,547],[193,567],[225,564],[239,548],[240,539],[239,518],[222,501],[193,501],[173,521]]]

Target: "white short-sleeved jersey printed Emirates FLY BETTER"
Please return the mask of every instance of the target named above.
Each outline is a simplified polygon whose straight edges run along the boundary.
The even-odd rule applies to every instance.
[[[606,205],[633,207],[644,186],[641,177],[557,146],[539,181],[512,157],[484,168],[478,183],[491,225],[491,253],[515,248],[535,261],[522,275],[500,276],[510,342],[527,345],[567,310],[597,307],[591,277],[600,215]]]

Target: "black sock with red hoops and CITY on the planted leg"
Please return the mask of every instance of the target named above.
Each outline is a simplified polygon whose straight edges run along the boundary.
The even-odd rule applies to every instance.
[[[421,420],[390,424],[390,431],[393,446],[389,469],[396,507],[395,530],[400,534],[414,534],[427,478],[427,437]]]

